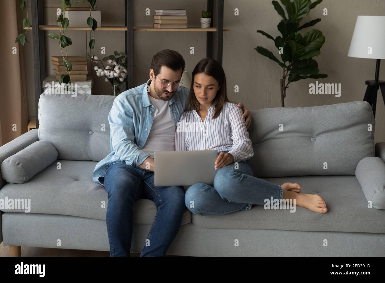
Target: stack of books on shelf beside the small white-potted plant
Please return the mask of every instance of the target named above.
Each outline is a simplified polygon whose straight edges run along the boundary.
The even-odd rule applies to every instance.
[[[155,10],[154,27],[187,28],[186,10]]]

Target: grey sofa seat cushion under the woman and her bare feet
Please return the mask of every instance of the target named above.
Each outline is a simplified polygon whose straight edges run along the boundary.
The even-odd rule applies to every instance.
[[[328,212],[315,213],[296,206],[289,209],[264,209],[255,205],[248,211],[218,216],[192,214],[192,223],[201,228],[278,229],[293,231],[339,231],[385,233],[385,211],[368,208],[355,176],[296,176],[263,178],[276,184],[298,183],[302,193],[319,194]]]

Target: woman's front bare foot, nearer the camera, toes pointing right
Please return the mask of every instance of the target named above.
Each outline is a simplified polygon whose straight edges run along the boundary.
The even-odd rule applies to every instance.
[[[295,199],[296,205],[314,212],[326,213],[328,211],[325,200],[318,194],[299,194],[293,191],[283,190],[283,199]]]

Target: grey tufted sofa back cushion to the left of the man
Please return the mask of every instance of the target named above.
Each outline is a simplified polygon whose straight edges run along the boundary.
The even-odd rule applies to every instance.
[[[46,94],[39,99],[39,141],[58,159],[100,161],[110,153],[108,114],[116,96]]]

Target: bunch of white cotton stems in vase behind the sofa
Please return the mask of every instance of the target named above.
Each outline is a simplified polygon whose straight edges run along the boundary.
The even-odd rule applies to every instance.
[[[96,75],[98,77],[104,77],[105,82],[109,82],[111,84],[111,95],[119,95],[125,87],[124,82],[127,80],[127,55],[123,52],[119,53],[115,51],[114,55],[104,57],[103,61],[107,64],[105,67],[103,62],[99,60],[97,56],[89,55],[89,57],[96,65],[94,67]],[[99,66],[99,62],[101,66]]]

